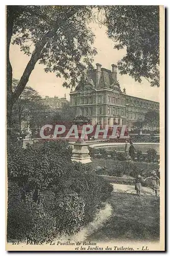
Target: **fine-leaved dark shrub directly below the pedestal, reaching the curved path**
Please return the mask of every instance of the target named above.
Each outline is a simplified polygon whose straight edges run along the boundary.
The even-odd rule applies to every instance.
[[[90,165],[77,162],[71,164],[66,179],[60,181],[59,189],[62,190],[64,186],[75,191],[84,200],[85,223],[92,221],[101,203],[112,191],[109,182],[98,176]]]

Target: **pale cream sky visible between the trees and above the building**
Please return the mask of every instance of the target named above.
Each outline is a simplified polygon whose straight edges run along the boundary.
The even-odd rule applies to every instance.
[[[116,64],[126,54],[126,50],[114,49],[114,42],[107,37],[105,26],[99,28],[98,24],[90,23],[89,27],[91,27],[95,34],[94,47],[98,51],[98,54],[94,56],[94,67],[95,63],[101,63],[102,68],[112,70],[111,65],[113,63]],[[13,68],[13,78],[20,79],[29,59],[29,56],[20,52],[17,45],[11,45],[10,60]],[[151,87],[146,79],[143,78],[142,82],[138,83],[129,75],[120,75],[117,73],[117,80],[122,90],[126,88],[128,95],[159,101],[159,88]],[[63,82],[63,78],[56,77],[55,73],[45,73],[44,67],[36,63],[30,75],[28,85],[35,89],[42,97],[58,96],[61,98],[66,94],[66,98],[69,100],[70,89],[63,88]]]

